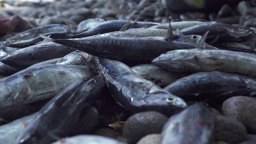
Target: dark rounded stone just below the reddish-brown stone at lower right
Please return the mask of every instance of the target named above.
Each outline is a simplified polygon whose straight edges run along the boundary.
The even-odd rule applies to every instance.
[[[246,127],[235,118],[228,116],[215,116],[214,123],[216,141],[236,144],[246,140]]]

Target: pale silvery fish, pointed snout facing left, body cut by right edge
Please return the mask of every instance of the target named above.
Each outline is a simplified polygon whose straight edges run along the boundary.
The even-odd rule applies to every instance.
[[[256,76],[256,55],[229,50],[173,50],[152,64],[171,72],[220,71]]]

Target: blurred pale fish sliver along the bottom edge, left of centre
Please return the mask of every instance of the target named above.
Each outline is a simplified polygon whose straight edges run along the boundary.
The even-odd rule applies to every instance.
[[[106,136],[83,134],[78,136],[72,136],[69,138],[64,138],[52,144],[127,144],[127,143],[118,141],[114,138],[108,138]]]

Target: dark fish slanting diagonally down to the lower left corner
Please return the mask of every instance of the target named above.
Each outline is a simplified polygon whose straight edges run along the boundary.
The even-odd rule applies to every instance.
[[[104,86],[102,76],[73,82],[39,111],[15,144],[49,144],[56,141],[49,132],[59,138],[68,136],[76,128],[82,110],[99,98]]]

